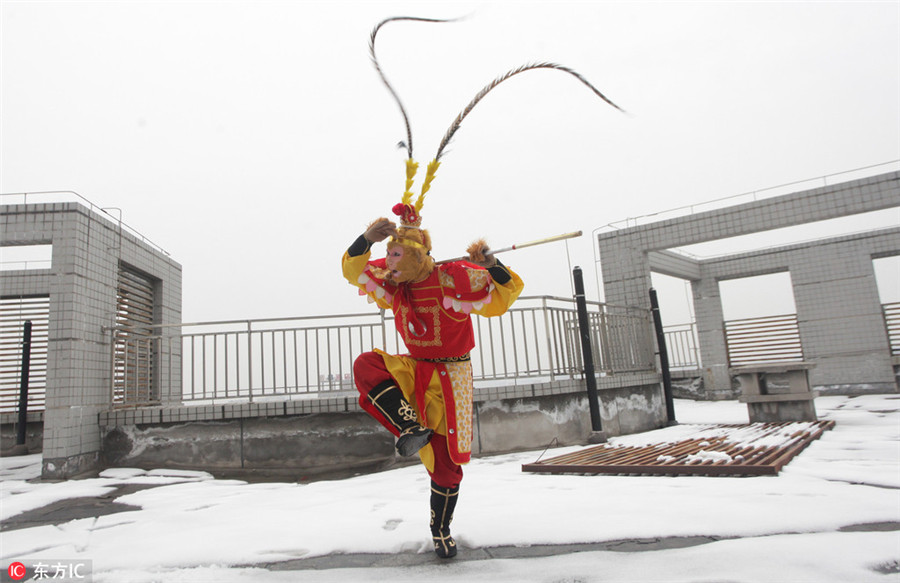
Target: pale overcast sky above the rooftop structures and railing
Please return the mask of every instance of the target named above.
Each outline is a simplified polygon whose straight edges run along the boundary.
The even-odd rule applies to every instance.
[[[475,93],[526,62],[572,67],[630,112],[532,71],[457,133],[423,209],[438,258],[481,236],[586,234],[504,256],[526,294],[570,295],[579,264],[596,299],[588,235],[608,223],[900,159],[898,2],[3,0],[0,14],[0,192],[123,209],[183,265],[185,321],[370,309],[338,263],[403,191],[405,130],[367,52],[388,16],[469,15],[379,36],[423,170]]]

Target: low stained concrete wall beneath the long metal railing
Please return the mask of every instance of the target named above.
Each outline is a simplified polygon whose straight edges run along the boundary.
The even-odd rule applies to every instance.
[[[607,435],[666,424],[657,374],[600,377],[598,383]],[[303,479],[372,471],[400,461],[393,437],[359,408],[355,394],[114,411],[103,414],[101,424],[103,461],[113,467]],[[480,389],[473,455],[584,444],[591,430],[583,380]]]

